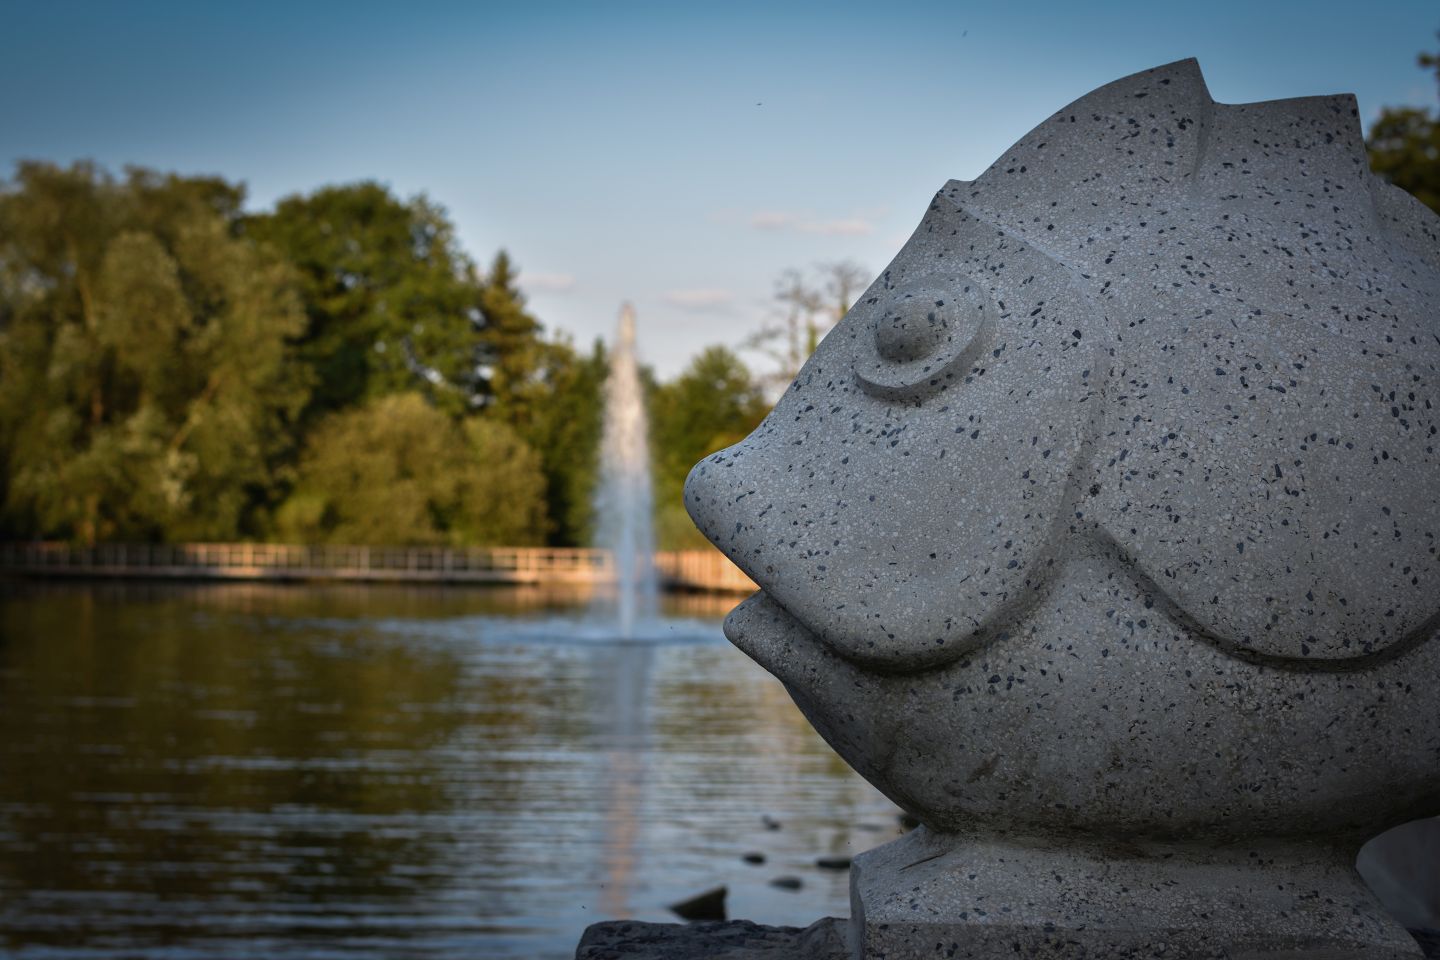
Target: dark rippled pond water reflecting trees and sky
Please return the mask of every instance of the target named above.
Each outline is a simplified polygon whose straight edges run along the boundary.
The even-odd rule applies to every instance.
[[[570,957],[719,884],[845,915],[815,858],[894,807],[732,604],[636,642],[533,589],[0,583],[0,956]]]

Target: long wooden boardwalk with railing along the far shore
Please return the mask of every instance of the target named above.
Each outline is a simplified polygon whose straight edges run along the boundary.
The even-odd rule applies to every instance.
[[[753,592],[716,550],[655,554],[670,590]],[[289,544],[0,544],[0,573],[176,580],[348,580],[396,583],[569,583],[615,579],[605,550],[553,547],[333,547]]]

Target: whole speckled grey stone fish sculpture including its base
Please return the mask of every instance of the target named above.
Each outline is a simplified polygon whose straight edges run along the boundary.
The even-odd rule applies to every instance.
[[[1182,60],[948,183],[685,488],[726,635],[924,825],[858,956],[1420,956],[1352,862],[1440,813],[1437,387],[1352,96]]]

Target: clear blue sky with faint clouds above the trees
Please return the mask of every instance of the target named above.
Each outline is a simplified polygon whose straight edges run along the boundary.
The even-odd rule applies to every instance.
[[[374,178],[521,266],[550,328],[622,301],[672,374],[786,268],[878,272],[948,178],[1184,56],[1241,102],[1433,105],[1440,3],[32,3],[0,0],[0,164]],[[759,364],[760,361],[756,360]]]

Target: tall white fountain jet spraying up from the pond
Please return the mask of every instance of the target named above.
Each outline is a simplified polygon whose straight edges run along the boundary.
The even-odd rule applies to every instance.
[[[648,432],[635,361],[635,308],[625,304],[605,381],[605,430],[595,488],[596,545],[611,551],[615,570],[613,584],[600,599],[624,638],[632,638],[635,625],[654,620],[658,610]]]

